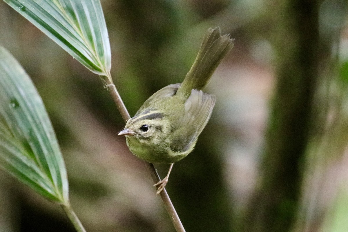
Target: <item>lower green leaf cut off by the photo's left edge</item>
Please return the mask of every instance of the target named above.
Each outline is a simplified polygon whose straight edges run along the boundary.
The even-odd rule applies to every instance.
[[[68,203],[65,165],[45,106],[21,65],[1,46],[0,166],[49,200]]]

